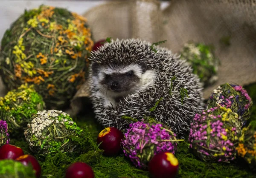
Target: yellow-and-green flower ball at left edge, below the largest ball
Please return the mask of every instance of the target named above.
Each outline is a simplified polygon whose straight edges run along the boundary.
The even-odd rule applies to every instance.
[[[0,116],[7,122],[10,133],[23,132],[31,116],[44,107],[43,98],[33,85],[21,85],[0,97]]]

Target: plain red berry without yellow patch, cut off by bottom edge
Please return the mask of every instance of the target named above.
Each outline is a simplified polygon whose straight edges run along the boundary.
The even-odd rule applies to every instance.
[[[65,178],[94,178],[94,174],[88,164],[76,162],[67,168]]]

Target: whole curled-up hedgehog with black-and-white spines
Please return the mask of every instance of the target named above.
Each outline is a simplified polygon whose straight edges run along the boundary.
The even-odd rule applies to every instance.
[[[167,48],[140,39],[106,42],[89,57],[90,99],[95,118],[125,131],[154,118],[184,138],[204,109],[203,87],[192,68]]]

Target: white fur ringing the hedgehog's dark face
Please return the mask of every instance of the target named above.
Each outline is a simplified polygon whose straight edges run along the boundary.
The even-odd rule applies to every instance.
[[[140,82],[138,82],[137,85],[135,85],[135,87],[131,88],[128,91],[115,93],[111,90],[108,90],[106,86],[100,83],[102,80],[105,79],[105,74],[110,75],[112,73],[126,73],[128,71],[134,71],[134,75],[140,78]],[[143,73],[140,65],[131,64],[128,66],[121,66],[121,67],[111,66],[111,67],[99,68],[98,75],[93,76],[93,82],[94,82],[94,86],[96,86],[99,89],[99,92],[97,94],[105,98],[105,107],[116,107],[117,105],[117,103],[115,102],[116,97],[122,97],[122,96],[125,97],[136,91],[144,90],[146,87],[154,83],[156,77],[157,77],[157,74],[155,71],[150,69],[150,70],[146,70],[145,73]]]

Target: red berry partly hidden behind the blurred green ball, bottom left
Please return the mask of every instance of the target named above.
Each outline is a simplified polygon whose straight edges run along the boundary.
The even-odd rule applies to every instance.
[[[27,166],[32,164],[33,169],[35,170],[35,175],[37,178],[41,175],[41,166],[38,163],[37,159],[32,155],[22,155],[15,159],[16,161],[20,161],[23,165]]]

